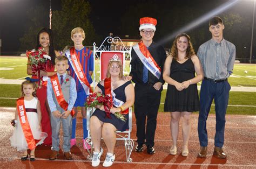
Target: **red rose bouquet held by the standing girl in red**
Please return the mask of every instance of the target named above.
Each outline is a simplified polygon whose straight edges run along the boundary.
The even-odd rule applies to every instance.
[[[29,58],[30,65],[32,68],[32,73],[36,74],[39,80],[39,87],[41,86],[41,76],[40,71],[45,71],[46,68],[46,61],[47,59],[51,60],[51,57],[47,55],[42,47],[38,47],[38,50],[31,50],[26,53]]]

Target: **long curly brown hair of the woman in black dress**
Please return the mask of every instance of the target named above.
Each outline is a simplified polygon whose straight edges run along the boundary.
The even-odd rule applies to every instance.
[[[196,53],[194,52],[194,48],[193,48],[193,45],[192,45],[192,43],[191,43],[190,36],[188,36],[186,33],[180,33],[180,34],[178,34],[178,35],[176,36],[176,38],[174,39],[173,45],[172,45],[172,48],[171,48],[171,56],[172,56],[175,60],[178,59],[177,41],[179,40],[180,37],[186,37],[186,38],[187,38],[188,46],[187,46],[187,50],[186,50],[185,59],[189,59],[189,58],[191,58],[193,55],[195,55]]]

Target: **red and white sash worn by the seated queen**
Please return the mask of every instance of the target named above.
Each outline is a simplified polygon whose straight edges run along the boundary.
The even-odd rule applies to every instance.
[[[109,95],[110,96],[110,100],[113,103],[113,105],[115,107],[120,107],[121,105],[124,104],[123,101],[118,100],[115,96],[116,94],[114,94],[113,90],[111,90],[111,78],[106,78],[104,80],[104,88],[105,88],[105,95]],[[120,112],[121,114],[127,114],[129,113],[129,109],[126,109],[122,112]]]

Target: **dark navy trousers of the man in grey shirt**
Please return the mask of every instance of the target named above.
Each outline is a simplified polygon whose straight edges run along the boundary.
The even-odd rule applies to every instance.
[[[226,123],[225,116],[230,89],[231,87],[228,81],[215,83],[209,80],[203,80],[200,90],[200,111],[198,117],[198,136],[200,146],[208,145],[206,121],[214,98],[216,116],[214,145],[217,147],[223,147]]]

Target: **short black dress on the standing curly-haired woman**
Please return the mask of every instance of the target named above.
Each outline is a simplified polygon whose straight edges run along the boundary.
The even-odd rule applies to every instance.
[[[170,77],[177,82],[184,82],[195,77],[194,64],[191,59],[183,64],[173,59],[171,64]],[[166,91],[164,111],[199,111],[199,97],[197,84],[178,91],[175,86],[169,85]]]

